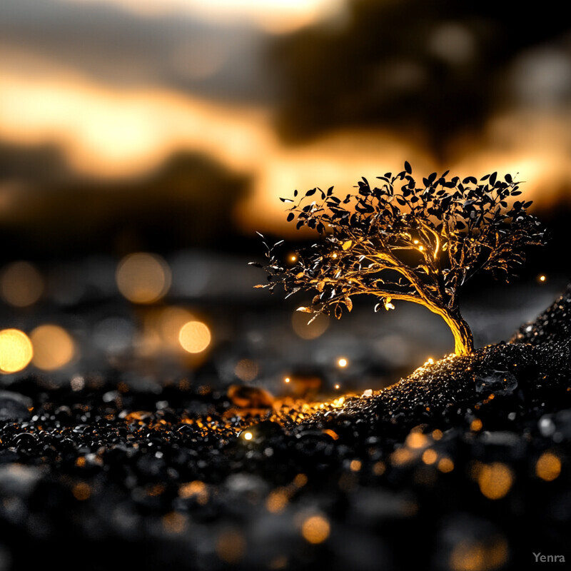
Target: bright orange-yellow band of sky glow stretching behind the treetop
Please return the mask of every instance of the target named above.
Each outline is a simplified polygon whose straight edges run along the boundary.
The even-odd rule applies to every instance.
[[[150,5],[150,0],[123,1],[141,11]],[[403,158],[425,173],[520,173],[526,199],[539,206],[553,201],[571,180],[568,121],[555,113],[494,117],[481,139],[460,141],[458,154],[439,166],[430,149],[398,133],[340,129],[286,146],[276,136],[268,109],[212,103],[168,89],[103,86],[40,56],[31,63],[26,57],[0,51],[2,140],[54,143],[72,168],[97,178],[150,173],[178,150],[201,153],[251,177],[252,191],[234,213],[238,228],[248,235],[256,229],[299,237],[295,225],[285,222],[280,196],[315,185],[344,193],[360,176],[373,181],[385,170],[395,171]],[[8,188],[1,198],[0,212],[6,216],[12,208]]]

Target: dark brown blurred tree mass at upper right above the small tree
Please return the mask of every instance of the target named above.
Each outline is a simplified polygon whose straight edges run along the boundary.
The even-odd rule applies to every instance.
[[[341,127],[393,128],[443,159],[455,136],[509,103],[516,56],[569,29],[552,1],[521,14],[492,2],[355,0],[342,26],[278,38],[277,125],[299,142]]]

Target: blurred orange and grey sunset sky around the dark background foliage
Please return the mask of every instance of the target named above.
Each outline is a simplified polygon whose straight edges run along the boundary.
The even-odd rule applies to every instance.
[[[200,153],[251,179],[235,213],[245,232],[285,228],[278,197],[295,188],[350,188],[405,159],[422,174],[519,172],[538,204],[566,200],[571,59],[561,42],[516,59],[511,104],[458,138],[445,164],[422,138],[378,123],[283,141],[268,44],[310,24],[335,34],[349,14],[348,0],[5,0],[0,141],[53,144],[72,173],[103,180],[151,172],[177,150]],[[433,37],[427,49],[443,57],[475,49],[461,26]],[[0,185],[1,198],[14,181]]]

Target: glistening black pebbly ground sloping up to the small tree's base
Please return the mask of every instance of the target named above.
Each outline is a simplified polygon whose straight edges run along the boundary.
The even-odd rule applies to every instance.
[[[19,380],[0,395],[0,570],[568,565],[570,308],[567,289],[510,343],[249,416],[185,379]]]

